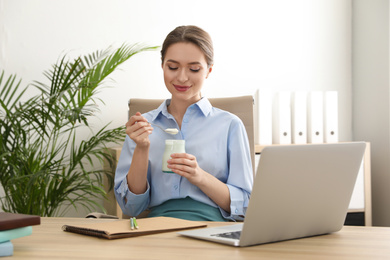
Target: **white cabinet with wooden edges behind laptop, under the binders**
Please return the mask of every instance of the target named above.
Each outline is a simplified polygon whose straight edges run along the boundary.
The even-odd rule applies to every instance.
[[[289,144],[290,145],[290,144]],[[293,145],[293,144],[291,144]],[[256,161],[265,146],[255,145]],[[255,164],[257,165],[257,163]],[[364,215],[364,225],[372,225],[372,205],[371,205],[371,155],[370,143],[366,143],[366,150],[362,161],[362,167],[358,175],[355,190],[352,195],[349,215],[362,213]]]

